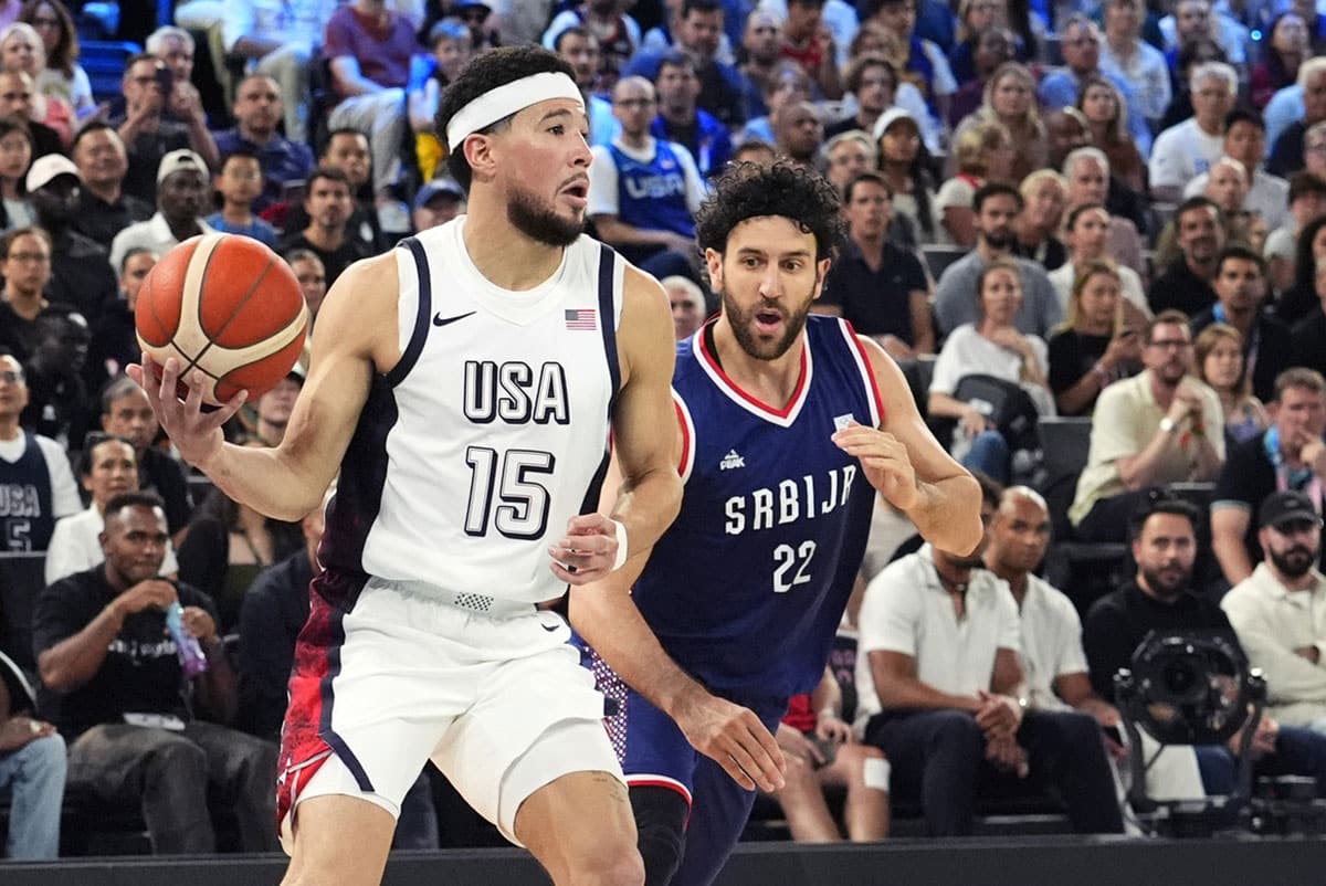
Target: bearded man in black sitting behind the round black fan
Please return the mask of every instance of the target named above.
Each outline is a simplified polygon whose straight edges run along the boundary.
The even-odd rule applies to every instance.
[[[1221,630],[1235,633],[1215,602],[1192,590],[1197,556],[1199,511],[1179,499],[1155,495],[1128,521],[1136,577],[1091,606],[1082,626],[1091,686],[1114,700],[1114,675],[1130,667],[1132,653],[1152,630]],[[1237,639],[1235,639],[1237,642]],[[1274,687],[1270,687],[1274,694]],[[1229,745],[1236,747],[1237,736]],[[1197,745],[1197,763],[1208,794],[1235,792],[1237,760],[1227,745]],[[1281,727],[1264,716],[1249,749],[1256,776],[1298,775],[1317,779],[1326,796],[1326,736]]]

